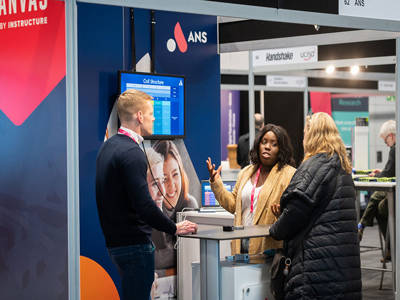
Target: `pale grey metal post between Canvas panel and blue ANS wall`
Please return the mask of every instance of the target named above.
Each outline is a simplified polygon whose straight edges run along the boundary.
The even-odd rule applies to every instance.
[[[76,0],[65,0],[68,298],[80,299],[79,147]]]

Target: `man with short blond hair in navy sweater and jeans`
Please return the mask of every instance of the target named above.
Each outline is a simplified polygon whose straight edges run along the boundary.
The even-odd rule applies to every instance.
[[[188,220],[175,224],[151,198],[147,162],[139,144],[152,134],[152,97],[135,89],[117,100],[121,126],[96,159],[96,203],[108,254],[121,277],[121,299],[150,299],[154,280],[152,228],[169,234],[197,231]]]

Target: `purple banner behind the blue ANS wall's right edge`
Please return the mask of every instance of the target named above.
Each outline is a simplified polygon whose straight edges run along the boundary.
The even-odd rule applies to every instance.
[[[221,160],[227,160],[226,145],[236,144],[239,138],[240,92],[221,90]]]

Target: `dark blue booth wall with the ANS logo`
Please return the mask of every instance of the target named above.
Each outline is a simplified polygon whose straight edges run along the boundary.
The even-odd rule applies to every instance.
[[[119,290],[120,278],[108,257],[99,225],[94,176],[96,155],[104,140],[108,118],[117,97],[116,71],[131,69],[130,8],[78,3],[77,13],[80,255],[81,260],[82,257],[92,260],[87,266],[82,267],[81,263],[81,295],[89,292],[86,289],[90,288],[84,283],[84,278],[93,280],[92,268],[101,267],[106,273],[101,273],[98,280],[104,283],[101,288],[96,288],[100,293],[109,292],[109,298],[114,298],[113,284]],[[209,176],[205,159],[210,156],[219,164],[221,151],[217,18],[164,11],[155,11],[154,16],[155,51],[151,53],[150,10],[134,9],[136,62],[145,61],[144,64],[149,68],[150,59],[155,57],[155,72],[186,76],[186,138],[183,142],[175,140],[174,143],[178,149],[187,150],[187,163],[194,167],[195,178],[189,177],[189,185],[199,185],[199,180]],[[184,51],[178,46],[170,51],[166,46],[167,41],[174,38],[177,22],[187,41]],[[199,31],[205,32],[202,35],[206,39],[194,40],[194,33],[198,34]],[[191,34],[193,39],[190,38]],[[109,133],[112,135],[112,132]],[[150,144],[145,142],[145,145],[147,147]],[[184,158],[182,153],[180,155]],[[199,198],[196,200],[197,203],[200,201]],[[176,255],[176,252],[171,253]],[[176,266],[176,257],[172,259]],[[112,282],[107,281],[107,274]]]

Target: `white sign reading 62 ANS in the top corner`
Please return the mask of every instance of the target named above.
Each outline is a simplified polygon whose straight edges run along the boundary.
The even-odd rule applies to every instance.
[[[339,14],[400,20],[399,0],[338,0]]]

